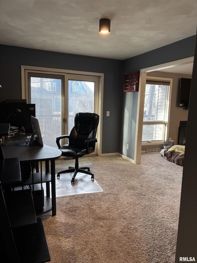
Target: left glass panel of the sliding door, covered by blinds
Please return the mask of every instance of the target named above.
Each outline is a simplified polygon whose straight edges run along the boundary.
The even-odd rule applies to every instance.
[[[57,148],[56,137],[62,134],[64,126],[62,125],[63,76],[32,75],[31,73],[29,76],[29,101],[35,103],[36,118],[39,121],[43,143]]]

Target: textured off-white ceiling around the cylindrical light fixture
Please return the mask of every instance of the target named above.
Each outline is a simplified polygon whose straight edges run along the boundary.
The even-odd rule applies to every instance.
[[[111,34],[98,33],[111,19]],[[197,0],[0,0],[0,44],[124,60],[196,34]]]

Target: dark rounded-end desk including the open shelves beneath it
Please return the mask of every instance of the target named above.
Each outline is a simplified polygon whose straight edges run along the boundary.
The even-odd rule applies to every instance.
[[[5,158],[19,157],[21,166],[21,186],[32,186],[36,215],[52,211],[52,216],[56,215],[56,193],[55,193],[55,159],[61,156],[61,151],[47,145],[31,146],[26,144],[26,136],[31,134],[20,134],[5,139],[7,144],[3,146]],[[11,142],[10,142],[11,141]],[[45,169],[42,167],[45,162]],[[45,171],[44,171],[45,170]],[[38,185],[40,191],[37,189]],[[46,186],[46,195],[42,194],[42,184]],[[16,186],[16,185],[15,185]],[[18,186],[18,185],[17,185]],[[51,191],[50,191],[51,188]],[[51,198],[50,198],[51,192]],[[38,211],[36,195],[44,196],[44,206]]]

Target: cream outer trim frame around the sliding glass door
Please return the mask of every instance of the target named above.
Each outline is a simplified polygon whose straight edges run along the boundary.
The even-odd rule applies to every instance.
[[[103,127],[103,89],[104,89],[104,74],[98,72],[84,72],[75,70],[65,70],[57,68],[42,68],[34,66],[21,65],[21,84],[22,84],[22,99],[26,99],[28,103],[28,72],[40,71],[40,73],[52,74],[74,74],[74,75],[85,75],[85,76],[95,76],[99,77],[99,90],[98,90],[98,115],[99,124],[97,129],[97,153],[98,156],[102,155],[102,127]],[[67,78],[65,78],[66,80]],[[65,82],[66,88],[66,82]]]

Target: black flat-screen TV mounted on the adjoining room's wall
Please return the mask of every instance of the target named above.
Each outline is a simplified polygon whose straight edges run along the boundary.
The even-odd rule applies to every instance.
[[[180,79],[179,107],[189,107],[191,79]]]

